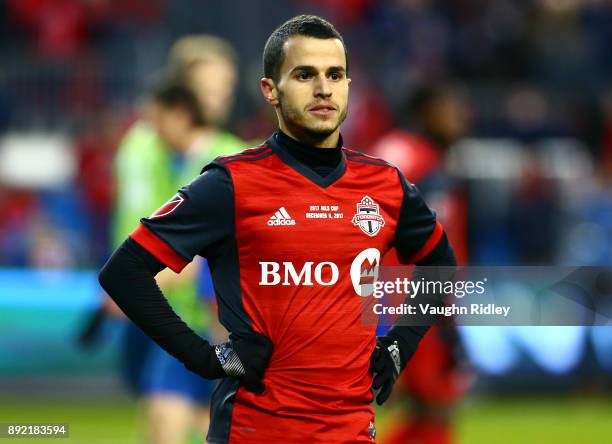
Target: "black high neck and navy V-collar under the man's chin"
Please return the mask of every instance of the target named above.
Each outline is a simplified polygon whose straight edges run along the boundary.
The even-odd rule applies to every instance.
[[[268,144],[283,162],[322,188],[342,177],[346,169],[342,136],[336,148],[317,148],[278,130],[268,139]]]

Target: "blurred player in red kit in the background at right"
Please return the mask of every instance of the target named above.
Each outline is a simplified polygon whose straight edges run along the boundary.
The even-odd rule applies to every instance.
[[[375,156],[395,164],[431,202],[441,223],[449,227],[459,265],[467,265],[466,202],[461,183],[445,162],[449,147],[469,132],[468,109],[466,98],[451,86],[417,88],[398,114],[399,127],[373,148]],[[395,252],[385,256],[383,265],[399,265]],[[382,443],[453,442],[453,407],[466,393],[469,380],[462,354],[452,322],[427,332],[400,377],[395,398],[399,417],[390,423]]]

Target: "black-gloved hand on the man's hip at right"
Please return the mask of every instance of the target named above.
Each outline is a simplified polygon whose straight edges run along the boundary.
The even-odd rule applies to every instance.
[[[374,376],[372,393],[378,405],[382,405],[391,395],[393,384],[401,370],[400,352],[397,341],[379,336],[370,357],[370,373]]]

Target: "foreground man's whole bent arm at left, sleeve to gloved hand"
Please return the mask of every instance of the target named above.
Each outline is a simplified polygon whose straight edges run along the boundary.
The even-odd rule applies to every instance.
[[[197,254],[215,255],[233,236],[233,189],[227,172],[212,167],[141,224],[100,272],[115,303],[157,344],[208,379],[230,376],[262,392],[272,344],[253,331],[211,345],[176,315],[155,282],[165,267],[180,272]]]

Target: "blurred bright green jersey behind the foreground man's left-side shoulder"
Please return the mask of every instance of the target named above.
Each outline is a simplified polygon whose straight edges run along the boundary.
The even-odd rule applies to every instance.
[[[117,248],[138,226],[179,188],[191,182],[214,158],[231,154],[244,143],[228,132],[218,131],[180,156],[167,147],[155,130],[138,121],[127,131],[114,163],[115,208],[112,247]],[[208,316],[198,302],[195,279],[182,278],[165,292],[174,310],[195,328],[206,328]]]

